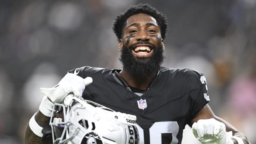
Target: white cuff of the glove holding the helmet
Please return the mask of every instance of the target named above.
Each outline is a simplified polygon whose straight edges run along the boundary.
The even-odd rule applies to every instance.
[[[44,96],[39,106],[39,111],[44,116],[50,117],[52,115],[53,105],[54,104],[47,98],[47,96]]]

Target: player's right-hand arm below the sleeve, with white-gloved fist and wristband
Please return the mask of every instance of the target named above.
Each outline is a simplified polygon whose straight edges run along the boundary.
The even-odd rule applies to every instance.
[[[223,144],[232,144],[231,141],[233,141],[234,144],[250,144],[243,133],[239,132],[234,126],[232,126],[230,123],[226,122],[222,118],[215,116],[208,104],[205,105],[199,111],[196,117],[192,119],[190,126],[193,129],[195,137],[203,144],[206,144],[204,142],[209,141],[207,140],[209,139],[209,137],[216,139],[216,141],[222,138],[226,139],[225,143]],[[216,129],[218,130],[216,131]],[[232,137],[230,136],[231,138],[228,136],[228,134],[226,134],[226,132],[230,131],[232,132]],[[213,143],[207,143],[214,144],[214,140],[212,140],[212,142]]]

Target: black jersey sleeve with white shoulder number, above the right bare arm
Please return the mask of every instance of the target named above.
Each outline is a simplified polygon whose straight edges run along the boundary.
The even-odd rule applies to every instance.
[[[191,107],[190,118],[188,124],[197,115],[197,113],[210,101],[207,89],[206,78],[202,73],[197,73],[196,81],[197,89],[190,92]]]

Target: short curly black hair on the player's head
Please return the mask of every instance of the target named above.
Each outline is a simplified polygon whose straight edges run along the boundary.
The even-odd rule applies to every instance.
[[[119,39],[122,39],[123,28],[127,18],[140,13],[150,15],[156,19],[161,31],[161,37],[162,39],[165,39],[167,35],[167,17],[149,4],[140,3],[138,5],[129,6],[126,11],[117,15],[115,18],[112,29],[117,36],[117,40],[119,41]]]

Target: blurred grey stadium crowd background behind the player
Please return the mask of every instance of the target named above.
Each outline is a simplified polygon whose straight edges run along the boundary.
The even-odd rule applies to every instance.
[[[256,0],[1,0],[0,144],[23,143],[40,87],[85,65],[122,68],[112,23],[139,2],[168,18],[163,65],[204,73],[215,114],[256,144]]]

